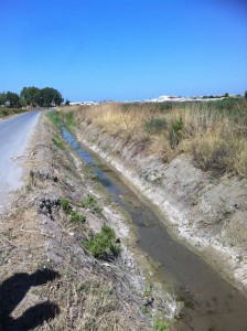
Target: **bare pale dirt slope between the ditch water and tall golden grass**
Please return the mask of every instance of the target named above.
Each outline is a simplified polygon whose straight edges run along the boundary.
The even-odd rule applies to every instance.
[[[78,113],[77,113],[78,115]],[[79,116],[77,116],[79,118]],[[164,163],[143,141],[79,121],[77,138],[148,197],[176,233],[239,287],[247,288],[247,181],[200,170],[181,154]]]

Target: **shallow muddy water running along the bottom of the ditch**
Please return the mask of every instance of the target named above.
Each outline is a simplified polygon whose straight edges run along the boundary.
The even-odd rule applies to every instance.
[[[131,217],[139,247],[159,263],[153,279],[184,302],[179,330],[246,331],[246,297],[198,255],[172,238],[152,209],[132,193],[117,173],[103,166],[84,146],[78,146],[65,128],[62,130],[65,140]]]

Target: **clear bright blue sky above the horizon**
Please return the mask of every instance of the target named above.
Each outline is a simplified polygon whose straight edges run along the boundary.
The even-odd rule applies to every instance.
[[[244,94],[246,0],[0,0],[0,92]]]

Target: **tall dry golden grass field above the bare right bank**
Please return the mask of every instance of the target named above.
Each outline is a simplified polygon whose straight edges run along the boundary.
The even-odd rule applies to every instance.
[[[191,156],[203,170],[247,178],[247,99],[117,104],[64,108],[63,117],[93,124],[125,143],[138,142],[164,162]],[[72,120],[71,120],[72,122]]]

